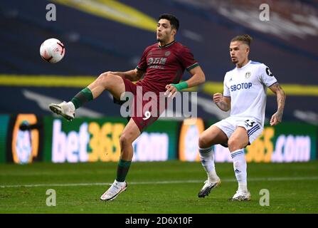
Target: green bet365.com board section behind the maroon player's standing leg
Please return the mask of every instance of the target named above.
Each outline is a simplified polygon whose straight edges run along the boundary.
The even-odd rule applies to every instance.
[[[123,118],[76,118],[72,123],[58,118],[44,118],[46,126],[44,160],[52,162],[117,162],[120,134],[127,120]],[[178,124],[154,123],[134,141],[135,161],[176,159]]]

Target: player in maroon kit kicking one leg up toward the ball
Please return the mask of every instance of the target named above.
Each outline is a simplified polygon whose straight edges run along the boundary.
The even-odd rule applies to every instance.
[[[68,103],[63,102],[49,106],[54,113],[62,115],[68,120],[73,120],[77,108],[97,98],[104,90],[110,91],[116,100],[120,100],[121,95],[127,92],[134,96],[134,111],[120,136],[121,155],[117,166],[117,177],[112,186],[100,197],[102,200],[115,199],[120,192],[126,190],[127,182],[125,179],[133,156],[132,142],[139,137],[144,128],[154,123],[166,108],[166,105],[164,107],[157,105],[162,98],[162,93],[165,92],[164,94],[168,97],[173,97],[177,91],[198,86],[205,81],[204,73],[194,60],[189,48],[175,40],[178,29],[179,20],[175,16],[161,14],[157,24],[158,42],[144,50],[135,69],[126,72],[107,71],[102,73]],[[191,74],[191,78],[179,83],[184,70]],[[137,81],[137,83],[132,83],[132,81]],[[137,93],[139,88],[142,89],[142,93]],[[157,99],[144,100],[142,96],[149,92],[155,94]],[[137,102],[142,103],[139,110]],[[152,115],[144,118],[146,115],[142,108],[149,102],[153,103],[152,108],[157,105],[157,110],[152,110]],[[137,115],[138,112],[142,115]],[[153,115],[156,112],[158,115]]]

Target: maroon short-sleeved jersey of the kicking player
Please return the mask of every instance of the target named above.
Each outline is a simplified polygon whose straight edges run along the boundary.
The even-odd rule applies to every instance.
[[[136,85],[142,86],[144,93],[165,92],[166,85],[179,83],[185,69],[190,71],[196,66],[198,63],[194,60],[194,55],[181,43],[173,41],[162,47],[155,43],[144,50],[137,65],[137,68],[145,71],[146,74]]]

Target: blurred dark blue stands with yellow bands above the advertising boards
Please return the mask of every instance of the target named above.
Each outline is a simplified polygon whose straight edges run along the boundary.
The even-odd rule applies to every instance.
[[[270,21],[260,21],[259,6],[266,2],[1,1],[0,88],[9,99],[0,100],[0,112],[48,115],[43,99],[69,99],[104,71],[134,68],[144,48],[156,42],[157,16],[169,12],[181,21],[177,39],[191,47],[206,73],[207,83],[198,88],[198,116],[221,118],[211,108],[211,94],[221,92],[223,76],[233,68],[230,38],[249,33],[255,38],[250,57],[270,66],[285,86],[284,120],[317,124],[317,1],[275,1]],[[46,21],[49,3],[56,5],[56,21]],[[51,37],[66,47],[65,58],[57,64],[43,62],[38,53],[41,43]],[[40,76],[46,83],[38,81]],[[91,78],[74,78],[78,76]],[[184,79],[188,76],[185,73]],[[102,96],[86,107],[85,115],[119,115],[112,98]],[[275,110],[275,96],[269,96],[267,118]]]

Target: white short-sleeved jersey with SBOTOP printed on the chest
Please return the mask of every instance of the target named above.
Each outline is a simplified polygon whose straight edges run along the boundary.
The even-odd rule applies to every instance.
[[[224,77],[223,95],[230,97],[230,116],[253,118],[264,125],[266,90],[276,83],[270,68],[249,61],[242,68],[228,71]]]

